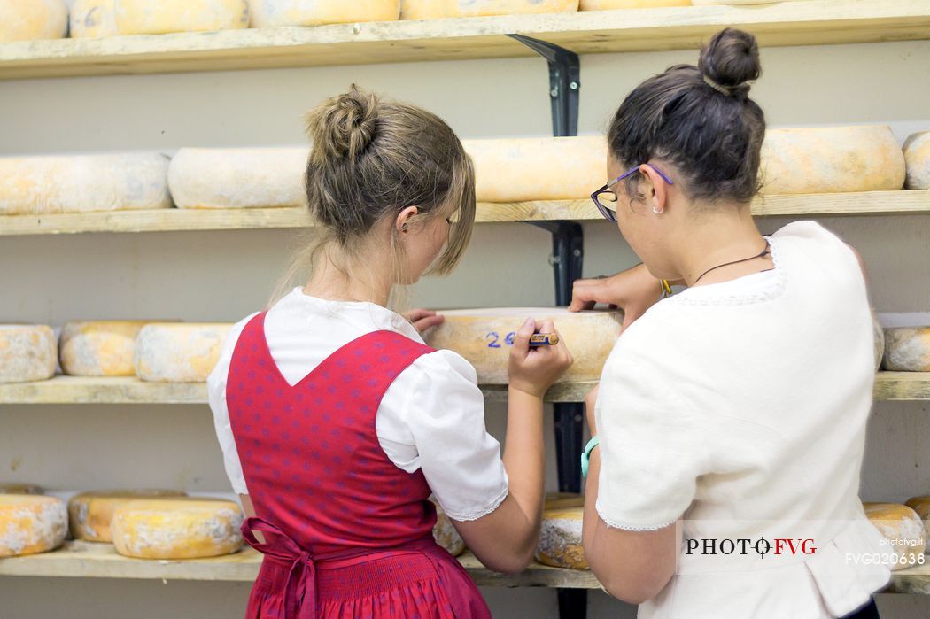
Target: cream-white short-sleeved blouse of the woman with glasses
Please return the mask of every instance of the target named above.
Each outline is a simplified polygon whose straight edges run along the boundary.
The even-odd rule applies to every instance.
[[[675,575],[641,618],[842,616],[889,578],[871,561],[894,549],[858,497],[875,368],[857,258],[810,221],[770,242],[774,270],[660,301],[604,366],[599,515],[632,531],[683,519]],[[776,555],[779,538],[795,552]],[[743,539],[772,548],[743,555]]]

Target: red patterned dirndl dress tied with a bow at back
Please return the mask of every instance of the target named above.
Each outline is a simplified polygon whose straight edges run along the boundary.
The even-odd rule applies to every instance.
[[[226,388],[256,511],[243,534],[265,555],[246,617],[490,618],[468,573],[432,539],[422,471],[397,468],[376,434],[385,391],[432,349],[376,331],[292,387],[272,360],[264,317],[239,337]]]

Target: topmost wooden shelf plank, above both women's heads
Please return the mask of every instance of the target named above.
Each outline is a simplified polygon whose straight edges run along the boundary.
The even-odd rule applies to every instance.
[[[930,7],[924,0],[817,0],[26,41],[0,46],[0,79],[532,55],[508,33],[581,54],[694,49],[726,26],[754,33],[763,46],[918,40],[930,38]]]

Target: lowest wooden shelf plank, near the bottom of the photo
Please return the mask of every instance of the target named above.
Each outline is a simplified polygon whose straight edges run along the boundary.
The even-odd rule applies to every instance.
[[[600,588],[594,574],[587,570],[564,570],[533,563],[524,573],[504,575],[485,568],[470,552],[458,561],[478,586]],[[261,555],[251,548],[215,559],[142,560],[118,555],[109,544],[75,541],[55,552],[0,559],[0,576],[252,582],[259,573],[260,563]],[[930,595],[930,565],[892,573],[885,592]]]

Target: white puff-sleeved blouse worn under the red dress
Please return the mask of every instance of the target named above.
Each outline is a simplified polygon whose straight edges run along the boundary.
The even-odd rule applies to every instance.
[[[235,343],[251,318],[233,327],[207,380],[226,474],[238,494],[248,494],[226,406],[226,377]],[[265,317],[265,337],[281,374],[294,385],[353,339],[389,330],[420,343],[405,318],[373,303],[328,301],[300,288],[275,303]],[[507,473],[500,445],[485,428],[485,401],[472,365],[451,350],[436,350],[411,363],[384,394],[375,427],[384,453],[426,481],[453,520],[476,520],[503,502]]]

